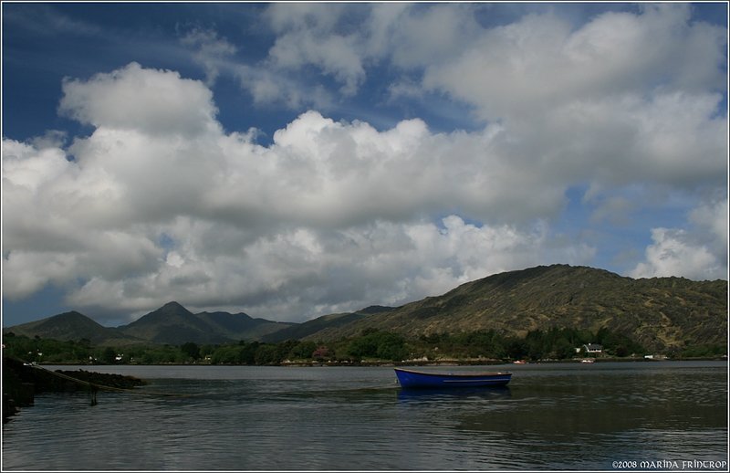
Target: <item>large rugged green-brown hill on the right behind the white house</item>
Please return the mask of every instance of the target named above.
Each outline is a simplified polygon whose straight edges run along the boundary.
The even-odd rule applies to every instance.
[[[727,281],[631,279],[595,268],[554,265],[465,283],[442,296],[311,333],[330,341],[381,329],[417,337],[443,332],[575,327],[630,336],[652,350],[727,342]]]

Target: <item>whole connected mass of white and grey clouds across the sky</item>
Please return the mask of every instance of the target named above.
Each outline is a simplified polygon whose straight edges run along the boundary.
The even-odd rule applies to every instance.
[[[598,248],[554,230],[576,186],[594,223],[636,225],[660,197],[693,203],[686,223],[652,230],[632,275],[724,276],[726,31],[686,6],[491,28],[472,5],[266,11],[277,37],[255,66],[194,29],[182,41],[206,83],[136,63],[66,79],[59,110],[89,136],[3,139],[5,297],[54,284],[78,310],[179,300],[276,320],[395,305],[499,271],[590,264]],[[393,96],[443,92],[486,126],[377,130],[310,110],[262,146],[216,120],[222,74],[256,105],[301,109],[339,98],[297,75],[314,68],[352,96],[374,64],[408,74]]]

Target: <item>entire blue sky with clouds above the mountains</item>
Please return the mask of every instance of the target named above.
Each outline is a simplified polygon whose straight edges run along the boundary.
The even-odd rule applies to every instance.
[[[727,5],[3,3],[3,326],[727,279]]]

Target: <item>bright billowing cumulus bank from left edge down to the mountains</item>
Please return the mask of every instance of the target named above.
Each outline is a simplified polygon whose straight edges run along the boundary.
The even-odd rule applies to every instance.
[[[132,84],[135,106],[115,109]],[[189,100],[155,98],[161,84]],[[546,258],[548,232],[529,222],[560,192],[536,203],[530,174],[507,184],[520,173],[491,151],[499,129],[434,134],[412,120],[377,131],[309,111],[265,147],[224,133],[203,84],[170,71],[131,64],[66,86],[62,109],[95,131],[68,150],[3,141],[5,297],[55,284],[79,309],[178,299],[294,319]],[[181,107],[197,112],[181,118]],[[495,224],[432,223],[460,207]],[[568,248],[556,260],[590,256]]]

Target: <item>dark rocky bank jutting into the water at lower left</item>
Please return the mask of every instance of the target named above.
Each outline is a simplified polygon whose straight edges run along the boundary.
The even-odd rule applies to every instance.
[[[87,371],[55,372],[41,366],[25,363],[9,356],[3,357],[3,423],[15,415],[20,407],[34,404],[39,393],[87,391],[91,404],[102,390],[127,390],[145,384],[139,378],[121,374]]]

